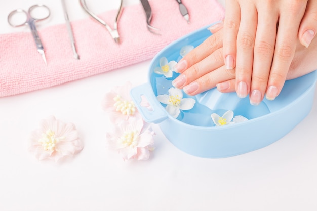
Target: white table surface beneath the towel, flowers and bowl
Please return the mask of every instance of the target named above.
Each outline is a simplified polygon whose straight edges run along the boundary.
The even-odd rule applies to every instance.
[[[117,4],[100,2],[91,9],[104,12]],[[0,32],[28,30],[9,27],[6,18],[34,3],[51,8],[48,25],[64,23],[60,1],[11,0],[0,7]],[[77,1],[66,3],[71,20],[87,18]],[[147,82],[149,63],[0,98],[0,210],[317,210],[316,95],[310,114],[289,134],[247,154],[194,157],[174,147],[157,125],[156,149],[147,161],[124,162],[106,150],[110,122],[102,98],[127,80]],[[27,150],[30,132],[50,115],[73,122],[85,145],[63,163],[38,161]]]

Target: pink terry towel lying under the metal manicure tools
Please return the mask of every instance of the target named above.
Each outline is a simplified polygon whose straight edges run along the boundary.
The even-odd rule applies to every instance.
[[[172,41],[224,18],[224,8],[216,0],[182,2],[188,9],[189,24],[180,14],[176,1],[149,1],[151,25],[159,28],[161,35],[147,30],[141,4],[123,8],[118,22],[119,45],[94,19],[72,21],[80,60],[73,58],[65,24],[42,28],[38,33],[47,66],[36,50],[31,32],[1,34],[0,97],[49,88],[149,60]],[[112,27],[116,13],[116,10],[107,11],[99,17]]]

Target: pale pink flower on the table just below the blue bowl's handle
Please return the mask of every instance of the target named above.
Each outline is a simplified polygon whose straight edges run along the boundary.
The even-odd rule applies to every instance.
[[[147,160],[149,151],[153,150],[153,135],[151,128],[139,118],[115,125],[112,133],[107,133],[106,137],[109,147],[117,150],[124,160]]]

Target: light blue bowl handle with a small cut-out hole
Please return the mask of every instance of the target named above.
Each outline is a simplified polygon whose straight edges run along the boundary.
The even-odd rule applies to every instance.
[[[161,103],[156,99],[149,83],[134,87],[130,91],[131,98],[141,113],[143,119],[149,123],[160,123],[167,119],[168,115]],[[150,109],[142,106],[142,96],[144,96],[150,105]]]

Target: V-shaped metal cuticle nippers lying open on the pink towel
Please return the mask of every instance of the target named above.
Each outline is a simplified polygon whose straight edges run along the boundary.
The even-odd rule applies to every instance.
[[[118,13],[116,15],[116,18],[115,18],[115,22],[113,24],[113,29],[108,25],[106,24],[105,21],[103,21],[102,19],[100,19],[97,15],[95,15],[93,12],[91,12],[87,5],[86,5],[86,2],[85,0],[80,0],[80,4],[82,6],[82,8],[91,16],[93,17],[96,21],[98,21],[99,23],[101,23],[102,25],[104,25],[106,27],[106,29],[109,31],[110,35],[112,36],[112,38],[114,39],[114,41],[116,43],[120,43],[120,39],[119,39],[119,33],[118,33],[118,30],[117,30],[117,26],[118,26],[118,21],[120,19],[120,16],[121,16],[121,12],[122,12],[122,0],[120,1],[120,7],[118,9]]]

